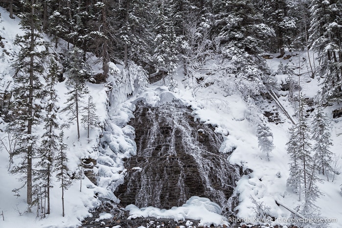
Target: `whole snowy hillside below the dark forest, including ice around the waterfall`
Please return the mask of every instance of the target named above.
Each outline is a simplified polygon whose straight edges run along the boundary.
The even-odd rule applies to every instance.
[[[195,58],[196,53],[189,54],[190,57],[194,57],[196,60],[193,60],[194,66],[188,68],[189,72],[187,74],[184,73],[183,62],[178,61],[172,77],[163,75],[166,69],[158,69],[151,76],[151,73],[148,73],[146,68],[135,64],[133,61],[125,66],[125,61],[118,60],[114,61],[115,63],[108,63],[106,81],[102,82],[104,70],[103,62],[101,62],[102,57],[96,57],[91,52],[85,52],[87,61],[84,64],[89,64],[91,77],[84,83],[87,92],[82,94],[80,105],[86,107],[89,104],[87,102],[90,101],[88,98],[91,95],[94,101],[93,118],[96,121],[92,128],[89,129],[89,133],[87,127],[84,127],[86,124],[80,124],[80,134],[78,136],[77,125],[75,118],[71,116],[72,113],[62,111],[67,107],[70,99],[68,92],[71,86],[68,80],[72,77],[72,70],[68,65],[70,64],[68,61],[71,59],[68,56],[71,49],[75,50],[76,46],[69,44],[66,40],[59,39],[57,47],[49,46],[47,48],[49,53],[47,58],[55,60],[59,66],[60,79],[53,86],[56,94],[58,94],[54,105],[57,110],[56,121],[60,126],[55,131],[57,135],[62,130],[64,132],[62,141],[66,144],[65,152],[69,169],[67,176],[72,180],[72,184],[64,192],[65,216],[63,217],[61,182],[56,177],[57,168],[53,170],[51,176],[50,214],[46,214],[46,196],[42,193],[35,193],[37,197],[39,196],[37,198],[39,201],[32,207],[28,207],[25,197],[27,185],[25,181],[20,181],[23,175],[9,173],[9,170],[19,164],[21,159],[20,156],[14,156],[14,163],[9,162],[9,143],[13,141],[8,139],[15,135],[8,134],[6,127],[10,126],[10,122],[13,122],[15,117],[21,116],[21,114],[24,115],[24,111],[18,111],[15,108],[15,104],[18,102],[14,96],[18,88],[16,84],[18,72],[15,71],[13,66],[21,50],[21,45],[15,43],[15,37],[16,35],[23,35],[24,31],[20,28],[20,19],[17,16],[15,16],[15,19],[10,19],[9,13],[1,7],[0,15],[0,96],[3,97],[0,98],[2,114],[0,123],[0,139],[2,140],[0,152],[0,212],[3,218],[1,220],[0,214],[0,227],[81,227],[85,218],[93,216],[92,213],[97,216],[97,208],[103,209],[107,205],[112,208],[106,213],[100,213],[98,218],[93,218],[98,223],[103,221],[102,225],[104,226],[109,221],[119,219],[119,216],[126,216],[127,213],[129,213],[129,217],[126,216],[125,219],[155,217],[175,221],[182,220],[184,221],[183,226],[186,225],[186,227],[193,227],[192,222],[187,222],[187,220],[194,221],[194,223],[197,223],[194,225],[198,227],[210,226],[211,224],[216,227],[224,227],[224,225],[229,225],[232,218],[237,219],[235,221],[237,225],[242,222],[265,226],[281,225],[286,228],[298,224],[296,220],[290,219],[293,219],[294,211],[299,214],[297,210],[299,210],[303,201],[298,201],[298,194],[294,193],[293,189],[286,184],[291,171],[289,165],[291,158],[287,153],[286,143],[290,136],[289,128],[300,120],[298,118],[300,116],[297,114],[298,99],[296,97],[299,97],[297,94],[301,92],[307,102],[304,113],[308,123],[312,122],[318,104],[321,103],[319,101],[322,98],[318,94],[324,89],[322,88],[324,85],[321,84],[324,77],[319,74],[318,68],[315,67],[316,74],[312,77],[310,67],[310,65],[319,66],[316,53],[313,51],[290,51],[285,49],[285,53],[265,54],[264,56],[267,57],[266,62],[257,65],[255,62],[259,60],[248,62],[251,61],[250,55],[248,57],[246,57],[247,54],[239,55],[238,51],[235,53],[232,49],[226,49],[226,51],[231,51],[228,53],[231,58],[226,56],[227,59],[222,57],[224,55],[222,52],[225,51],[210,50],[208,55],[211,57],[207,59],[205,59],[206,57],[198,57],[198,55]],[[42,38],[37,40],[54,43],[53,36],[46,33],[41,34]],[[185,46],[185,44],[183,45]],[[70,46],[70,52],[68,52],[67,46]],[[239,62],[234,53],[239,58],[245,56],[246,59]],[[308,53],[310,57],[307,56]],[[260,57],[259,55],[256,56]],[[79,56],[79,59],[82,59],[81,57]],[[221,57],[222,59],[220,59]],[[205,59],[205,61],[199,63],[198,59]],[[188,61],[191,62],[191,58]],[[196,64],[201,66],[197,68]],[[244,66],[241,67],[239,64]],[[245,65],[248,67],[244,68]],[[48,75],[52,70],[48,69],[47,62],[42,66],[45,70],[38,78],[43,82],[42,87],[45,87],[48,84]],[[284,68],[284,66],[287,67]],[[82,70],[77,68],[76,71]],[[251,75],[255,79],[251,80]],[[291,82],[293,83],[293,94],[290,94],[289,75],[293,79],[293,82]],[[98,78],[100,80],[96,82]],[[176,105],[168,106],[173,102]],[[46,97],[36,102],[36,104],[39,104],[40,110],[46,110],[50,103]],[[175,107],[180,108],[181,111]],[[161,110],[161,114],[155,112],[158,109]],[[327,222],[331,223],[317,226],[340,228],[342,227],[342,211],[339,209],[342,205],[340,186],[342,184],[342,176],[340,175],[342,158],[341,104],[339,102],[326,102],[322,105],[322,110],[329,119],[333,143],[330,151],[334,153],[333,158],[336,156],[332,160],[334,170],[328,174],[329,181],[326,175],[317,172],[320,180],[317,182],[317,187],[321,192],[319,198],[314,201],[314,205],[317,206],[314,208],[317,210],[310,211],[312,214],[299,214],[298,216],[311,216],[310,218],[314,219],[323,218],[323,220],[326,219]],[[46,112],[48,111],[43,111],[42,115],[46,114]],[[83,110],[82,112],[80,116],[86,114],[87,111]],[[138,115],[152,116],[153,114],[155,114],[155,118],[146,120],[148,122],[143,122],[138,117]],[[166,117],[162,116],[162,114],[165,114]],[[189,118],[191,122],[189,121],[181,126],[179,123],[185,119],[182,114]],[[274,148],[270,151],[269,156],[262,151],[262,147],[258,144],[257,126],[260,124],[259,118],[265,121],[265,126],[268,126],[269,131],[272,132],[271,138]],[[141,128],[139,132],[147,132],[146,134],[137,135],[139,134],[137,127],[136,129],[132,127],[133,119],[136,121],[136,126]],[[158,123],[154,123],[154,121]],[[196,126],[194,127],[194,125]],[[158,126],[162,126],[162,128]],[[161,136],[173,132],[173,127],[182,129],[184,132],[182,134],[178,133],[176,139],[165,137],[166,139],[162,141]],[[154,129],[154,131],[151,129]],[[42,147],[45,131],[43,121],[34,125],[33,132],[35,137],[38,138],[34,149],[38,150],[38,148]],[[202,144],[192,141],[191,137],[194,135],[192,131],[195,132],[194,138],[214,137],[215,142],[219,143],[213,145],[207,143],[205,141],[207,139],[203,139],[205,142],[201,141],[201,143],[209,148],[204,150]],[[311,130],[310,134],[312,133]],[[20,138],[24,137],[23,135],[20,136]],[[140,144],[137,144],[138,138],[141,137],[150,139],[155,137],[152,141],[157,141],[157,144],[147,143],[147,149],[141,149]],[[182,138],[181,142],[177,141],[179,138]],[[161,142],[158,140],[161,140]],[[314,144],[314,140],[309,140]],[[148,147],[151,145],[153,147],[161,146],[161,149],[158,148],[160,154],[157,156],[165,160],[159,161],[160,166],[158,167],[151,168],[148,166],[148,163],[152,162],[154,157],[157,157],[153,154],[156,153],[157,149],[155,151],[151,149],[152,155],[147,155],[146,158],[139,154],[142,150],[147,150],[149,153],[150,148]],[[172,145],[175,146],[172,147]],[[168,146],[171,149],[166,150],[165,148]],[[190,152],[178,155],[178,152],[185,147],[188,147],[192,153],[191,160],[181,160],[177,157],[189,157]],[[46,149],[43,146],[42,150]],[[209,153],[205,154],[206,152],[214,154],[210,150],[217,150],[215,154],[217,157],[214,157],[214,155],[210,157]],[[166,155],[162,154],[162,152],[165,152]],[[39,164],[41,158],[38,154],[36,155],[37,157],[33,158],[33,163]],[[148,160],[147,157],[152,158]],[[135,158],[143,160],[143,164],[146,166],[129,166],[127,162]],[[180,181],[176,183],[176,185],[180,185],[180,188],[177,189],[195,189],[201,195],[191,195],[185,199],[184,197],[188,195],[184,193],[182,199],[172,199],[175,202],[177,201],[175,204],[178,205],[169,205],[171,200],[161,203],[156,200],[152,203],[153,198],[159,197],[157,193],[160,186],[156,184],[151,189],[152,182],[149,181],[158,179],[155,177],[159,177],[160,173],[166,172],[163,165],[169,164],[172,160],[175,161],[172,164],[178,162],[177,164],[182,163],[182,166],[168,167],[169,172],[177,173],[179,169],[182,175],[187,175],[186,178],[188,179],[184,178],[184,180],[190,180],[191,182],[187,184],[180,178]],[[212,162],[212,160],[219,160],[219,165]],[[183,170],[189,167],[193,168],[193,174],[190,171]],[[228,167],[236,168],[235,171],[231,171],[231,177],[227,175],[227,172],[230,171]],[[148,176],[148,170],[154,168],[152,175]],[[42,169],[43,166],[34,166],[37,173]],[[139,184],[141,189],[143,188],[142,185],[145,184],[146,189],[149,191],[145,189],[145,195],[149,195],[149,198],[145,198],[150,200],[145,203],[141,203],[143,200],[141,202],[136,201],[143,206],[129,205],[128,203],[124,205],[125,202],[120,200],[115,191],[119,189],[120,185],[126,188],[122,192],[129,192],[127,189],[129,184],[126,186],[123,183],[128,181],[128,177],[135,177],[135,173],[138,172],[146,175],[145,182],[142,181]],[[212,173],[216,176],[212,175]],[[143,177],[141,174],[140,176]],[[178,176],[175,177],[174,179],[178,180]],[[197,182],[191,180],[195,178],[198,179]],[[210,178],[214,178],[217,182],[210,180]],[[236,178],[236,181],[234,178]],[[231,181],[230,179],[233,180],[232,183],[227,184]],[[171,178],[165,179],[163,180],[163,186],[165,186],[165,182],[175,180],[171,180]],[[43,181],[45,180],[43,179]],[[133,178],[129,181],[135,182],[137,180]],[[158,181],[159,179],[156,182],[160,183]],[[196,185],[195,187],[191,186],[192,181]],[[38,181],[35,180],[34,182]],[[200,191],[201,184],[206,186]],[[220,184],[222,186],[216,186]],[[41,192],[46,191],[46,185],[38,184],[37,186],[40,187],[38,189]],[[163,188],[163,186],[160,188]],[[182,186],[187,186],[187,188]],[[177,185],[177,187],[179,186]],[[169,192],[171,192],[173,186],[168,186],[168,188]],[[174,188],[176,189],[176,187]],[[222,200],[220,197],[224,194],[222,192],[225,192],[222,190],[224,188],[229,188],[229,190],[232,188],[232,191],[229,192],[231,194],[229,197],[225,196],[226,198]],[[215,195],[216,192],[219,193]],[[133,198],[136,198],[136,196]],[[144,199],[144,196],[140,198]],[[167,199],[167,197],[160,197],[160,199]],[[158,206],[158,204],[164,205],[165,208]],[[260,217],[257,221],[253,220],[258,217],[256,213],[258,211],[256,209],[257,205],[264,205],[263,212],[266,212],[265,223],[260,220]],[[28,212],[27,210],[30,208],[33,210]],[[318,215],[319,217],[317,217]],[[295,218],[298,217],[295,216]],[[145,223],[138,225],[141,225],[140,228],[147,226]],[[304,225],[314,227],[310,223]],[[124,225],[121,226],[125,228]],[[148,225],[151,228],[153,226]],[[119,227],[118,225],[115,228]]]

